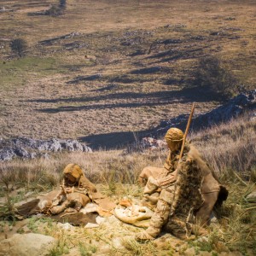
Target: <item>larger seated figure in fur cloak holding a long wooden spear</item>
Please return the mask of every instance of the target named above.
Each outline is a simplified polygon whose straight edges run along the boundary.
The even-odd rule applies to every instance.
[[[152,240],[162,229],[186,238],[191,232],[209,224],[212,210],[220,207],[228,196],[201,154],[185,142],[179,160],[183,131],[171,128],[166,132],[170,152],[162,168],[148,166],[140,174],[145,185],[144,203],[154,208],[149,227],[137,234],[138,241]]]

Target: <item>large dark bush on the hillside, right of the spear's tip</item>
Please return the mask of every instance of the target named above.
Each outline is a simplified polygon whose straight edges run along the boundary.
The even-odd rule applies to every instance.
[[[214,94],[230,97],[238,90],[238,81],[233,73],[214,56],[201,59],[193,76],[193,84],[204,87]]]

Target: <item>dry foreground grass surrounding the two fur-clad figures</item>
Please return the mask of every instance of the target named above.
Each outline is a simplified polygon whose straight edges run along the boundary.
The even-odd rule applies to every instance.
[[[218,223],[211,224],[206,241],[196,237],[191,241],[180,241],[174,236],[165,235],[155,242],[143,245],[131,237],[140,229],[126,224],[114,224],[114,227],[102,224],[101,229],[92,231],[83,228],[76,228],[75,231],[55,229],[56,224],[49,219],[31,218],[26,224],[28,223],[32,232],[58,239],[51,255],[72,255],[74,252],[78,255],[183,255],[188,248],[194,248],[194,253],[208,251],[217,255],[228,251],[230,255],[237,252],[253,255],[256,248],[255,202],[249,203],[246,196],[255,190],[255,125],[255,118],[246,115],[241,119],[231,120],[228,124],[190,134],[192,142],[204,154],[214,172],[230,191],[221,212],[223,217]],[[90,154],[55,154],[48,160],[6,162],[1,165],[1,194],[9,195],[9,204],[2,204],[1,212],[7,218],[13,213],[12,203],[26,198],[27,192],[33,191],[33,195],[38,195],[42,191],[55,188],[60,183],[64,166],[70,162],[83,166],[85,175],[114,200],[119,201],[123,196],[141,198],[142,188],[137,185],[138,174],[144,166],[161,166],[165,157],[166,150],[131,153],[123,150],[101,150]],[[2,236],[10,233],[6,224],[7,222],[2,222]],[[24,232],[20,226],[19,223],[12,225],[12,232]],[[115,239],[119,236],[125,237],[122,248],[116,247]]]

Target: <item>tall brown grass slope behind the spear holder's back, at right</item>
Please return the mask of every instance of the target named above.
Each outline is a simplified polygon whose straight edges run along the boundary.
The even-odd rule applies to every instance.
[[[234,177],[238,172],[246,180],[255,182],[256,119],[252,114],[191,135],[219,176]]]

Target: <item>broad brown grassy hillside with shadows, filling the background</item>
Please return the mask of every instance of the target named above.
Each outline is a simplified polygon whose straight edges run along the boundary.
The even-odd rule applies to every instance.
[[[198,61],[217,57],[255,88],[254,1],[2,1],[1,137],[61,137],[103,147],[161,120],[218,106],[191,89]],[[9,41],[23,38],[24,58]]]

